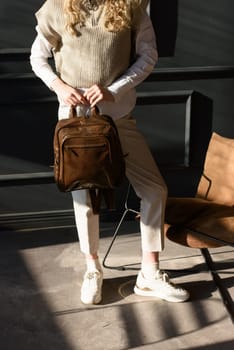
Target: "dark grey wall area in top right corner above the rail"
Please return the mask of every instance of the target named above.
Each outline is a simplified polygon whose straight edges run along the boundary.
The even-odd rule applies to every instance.
[[[179,0],[174,64],[233,64],[234,2]]]

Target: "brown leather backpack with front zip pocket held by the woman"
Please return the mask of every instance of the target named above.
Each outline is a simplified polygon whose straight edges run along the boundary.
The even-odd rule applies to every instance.
[[[112,206],[113,189],[125,176],[125,161],[118,130],[111,117],[97,108],[58,121],[54,132],[54,177],[62,192],[89,189],[93,211],[100,210],[101,195]]]

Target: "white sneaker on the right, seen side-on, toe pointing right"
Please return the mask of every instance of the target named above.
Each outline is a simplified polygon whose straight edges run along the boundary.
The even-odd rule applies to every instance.
[[[146,279],[140,271],[134,293],[146,297],[157,297],[174,303],[183,302],[189,298],[189,293],[171,283],[168,275],[163,271],[159,271],[152,280]]]

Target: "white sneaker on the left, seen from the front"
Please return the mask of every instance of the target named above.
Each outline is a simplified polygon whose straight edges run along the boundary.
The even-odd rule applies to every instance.
[[[102,300],[103,273],[98,270],[86,271],[81,287],[83,304],[98,304]]]

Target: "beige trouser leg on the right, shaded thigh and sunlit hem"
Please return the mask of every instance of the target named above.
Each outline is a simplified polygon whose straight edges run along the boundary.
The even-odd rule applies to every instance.
[[[141,242],[143,251],[164,248],[164,211],[167,187],[144,137],[131,117],[117,120],[126,157],[126,175],[141,199]]]

